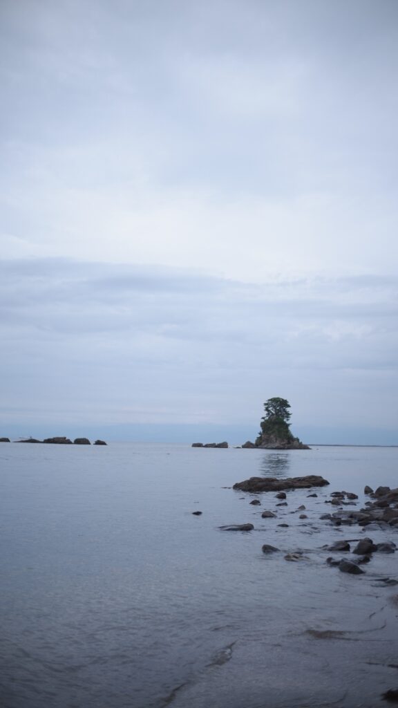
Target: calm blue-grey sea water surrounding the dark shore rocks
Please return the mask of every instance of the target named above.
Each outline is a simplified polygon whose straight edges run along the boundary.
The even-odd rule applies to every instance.
[[[398,554],[340,573],[322,545],[364,532],[319,516],[331,491],[361,504],[365,484],[398,486],[397,462],[381,447],[2,443],[1,708],[385,704],[398,688],[398,586],[377,578],[398,578]],[[261,474],[331,485],[279,508],[274,494],[256,507],[230,489]],[[267,508],[278,518],[262,519]],[[218,529],[246,522],[255,530]],[[365,535],[398,544],[397,530]],[[263,543],[306,558],[265,556]]]

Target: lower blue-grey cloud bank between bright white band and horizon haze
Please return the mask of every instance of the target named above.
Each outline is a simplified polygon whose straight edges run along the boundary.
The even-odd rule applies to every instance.
[[[257,426],[284,394],[304,428],[398,422],[392,278],[260,286],[54,259],[0,275],[2,426]]]

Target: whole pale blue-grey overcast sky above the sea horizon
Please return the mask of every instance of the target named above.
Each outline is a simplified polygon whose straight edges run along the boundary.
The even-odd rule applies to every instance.
[[[398,444],[397,1],[0,27],[0,435]]]

